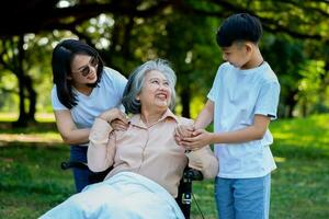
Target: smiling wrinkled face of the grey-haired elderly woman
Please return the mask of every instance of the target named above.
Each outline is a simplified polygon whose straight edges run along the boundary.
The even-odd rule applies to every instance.
[[[169,81],[160,71],[147,72],[137,99],[140,101],[141,108],[167,110],[171,102]]]

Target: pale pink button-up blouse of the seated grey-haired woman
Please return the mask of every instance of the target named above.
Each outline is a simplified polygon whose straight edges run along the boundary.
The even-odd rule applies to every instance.
[[[88,148],[88,166],[101,172],[113,165],[105,180],[122,171],[144,175],[164,187],[173,197],[184,168],[189,165],[202,171],[206,178],[218,173],[218,161],[208,146],[185,153],[174,141],[174,128],[193,124],[188,118],[178,118],[170,110],[152,126],[146,127],[140,114],[131,118],[126,131],[115,131],[101,118],[91,128]]]

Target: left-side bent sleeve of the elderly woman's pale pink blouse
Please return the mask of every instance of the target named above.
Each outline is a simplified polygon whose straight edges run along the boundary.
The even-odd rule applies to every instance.
[[[115,137],[110,124],[95,118],[89,135],[87,152],[88,168],[93,172],[105,171],[113,164],[115,155]]]

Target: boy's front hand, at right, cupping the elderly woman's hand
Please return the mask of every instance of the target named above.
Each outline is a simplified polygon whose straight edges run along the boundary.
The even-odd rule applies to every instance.
[[[209,143],[212,143],[212,134],[204,129],[197,129],[191,137],[183,137],[180,141],[180,145],[188,150],[198,150]]]

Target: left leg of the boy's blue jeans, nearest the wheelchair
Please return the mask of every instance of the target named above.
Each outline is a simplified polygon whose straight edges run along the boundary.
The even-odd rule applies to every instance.
[[[232,183],[234,178],[216,177],[215,199],[219,219],[235,219]]]

